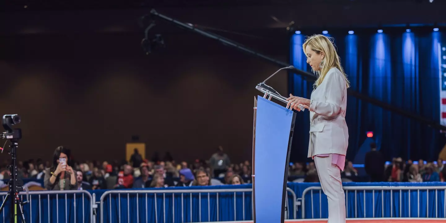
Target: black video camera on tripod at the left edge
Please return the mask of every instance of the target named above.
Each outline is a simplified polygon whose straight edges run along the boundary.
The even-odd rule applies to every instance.
[[[21,220],[25,223],[25,215],[23,213],[23,205],[28,203],[28,190],[26,191],[27,201],[21,202],[19,198],[19,192],[23,191],[23,180],[17,179],[17,153],[16,149],[18,147],[18,141],[22,138],[22,131],[20,128],[12,128],[13,125],[19,124],[21,121],[20,116],[15,115],[4,115],[2,119],[2,125],[5,132],[0,134],[2,139],[7,139],[11,141],[10,150],[8,154],[11,155],[12,161],[11,165],[9,165],[9,171],[11,172],[11,179],[8,182],[9,192],[3,200],[3,203],[0,206],[0,212],[3,211],[3,208],[6,204],[8,198],[11,202],[10,216],[11,222],[14,219],[14,222],[17,221],[17,216],[20,214]],[[1,153],[4,152],[4,148],[1,150]]]

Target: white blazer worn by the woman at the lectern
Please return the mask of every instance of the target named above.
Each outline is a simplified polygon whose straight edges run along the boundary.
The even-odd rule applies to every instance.
[[[311,93],[308,157],[337,153],[346,155],[348,128],[347,83],[338,68],[331,68]]]

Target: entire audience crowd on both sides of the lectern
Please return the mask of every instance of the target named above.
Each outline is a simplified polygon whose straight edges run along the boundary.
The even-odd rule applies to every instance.
[[[244,184],[252,182],[252,166],[249,161],[231,163],[229,156],[219,147],[209,160],[177,163],[169,153],[162,159],[158,154],[152,160],[141,157],[135,149],[129,161],[75,161],[70,160],[70,150],[58,147],[53,162],[41,159],[18,163],[18,178],[44,179],[47,190],[97,190],[118,188],[161,188],[171,186],[209,186]],[[66,166],[59,160],[66,158]],[[1,165],[0,180],[10,178],[7,163]],[[385,164],[382,154],[371,144],[365,157],[365,172],[369,182],[444,182],[446,168],[443,161],[403,161],[394,158]],[[346,160],[341,171],[343,182],[358,179],[358,170]],[[75,180],[71,180],[75,178]],[[318,182],[314,162],[290,163],[288,179],[291,182]]]

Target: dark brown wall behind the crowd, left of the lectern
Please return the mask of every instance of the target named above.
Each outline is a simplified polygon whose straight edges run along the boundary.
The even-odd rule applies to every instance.
[[[286,34],[271,36],[239,40],[286,60]],[[222,145],[234,161],[250,160],[255,86],[277,67],[182,31],[146,56],[142,37],[2,36],[0,114],[22,117],[19,160],[49,160],[58,145],[78,160],[119,160],[132,135],[149,158],[169,151],[178,161],[207,159]],[[283,71],[269,83],[286,94],[286,80]]]

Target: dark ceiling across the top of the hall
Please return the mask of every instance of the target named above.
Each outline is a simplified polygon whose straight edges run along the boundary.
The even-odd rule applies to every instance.
[[[446,24],[446,1],[434,0],[3,0],[3,35],[140,32],[151,8],[182,22],[248,31]],[[441,10],[443,8],[444,10]]]

